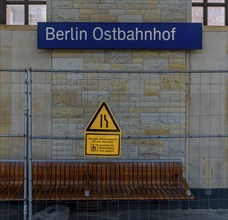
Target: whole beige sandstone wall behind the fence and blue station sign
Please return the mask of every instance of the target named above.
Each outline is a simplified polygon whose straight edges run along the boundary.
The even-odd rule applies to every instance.
[[[48,0],[60,22],[187,22],[190,1]],[[227,134],[228,29],[204,28],[202,51],[38,50],[36,27],[0,26],[0,69],[58,69],[33,74],[34,159],[85,158],[83,134],[106,100],[123,136]],[[68,70],[107,70],[77,73]],[[108,73],[118,70],[118,74]],[[138,70],[139,73],[124,73]],[[169,71],[149,74],[140,71]],[[183,71],[183,72],[181,72]],[[0,72],[0,131],[24,132],[24,73]],[[121,158],[181,158],[191,187],[228,187],[226,138],[123,139]],[[23,138],[0,138],[0,158],[23,158]],[[86,159],[86,158],[85,158]]]

